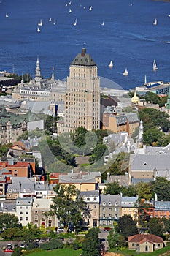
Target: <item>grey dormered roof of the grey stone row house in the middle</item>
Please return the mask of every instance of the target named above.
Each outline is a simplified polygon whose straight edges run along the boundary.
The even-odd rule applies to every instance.
[[[101,195],[101,206],[121,206],[121,195]]]

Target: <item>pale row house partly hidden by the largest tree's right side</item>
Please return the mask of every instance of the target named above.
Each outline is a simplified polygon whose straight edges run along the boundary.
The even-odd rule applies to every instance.
[[[82,191],[80,192],[80,197],[83,198],[84,202],[90,208],[90,218],[85,219],[88,222],[88,227],[98,227],[99,226],[99,190],[92,191]]]

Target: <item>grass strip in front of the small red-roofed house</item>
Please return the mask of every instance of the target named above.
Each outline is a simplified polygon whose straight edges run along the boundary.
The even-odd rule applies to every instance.
[[[110,249],[109,252],[115,252],[116,249]],[[168,252],[166,254],[166,252]],[[159,250],[156,250],[155,252],[136,252],[136,251],[129,251],[128,249],[123,249],[123,250],[119,250],[118,252],[122,253],[124,256],[139,256],[139,255],[142,255],[142,256],[161,256],[163,254],[165,254],[164,256],[168,256],[170,255],[170,246],[166,246],[164,247],[163,249],[159,249]]]

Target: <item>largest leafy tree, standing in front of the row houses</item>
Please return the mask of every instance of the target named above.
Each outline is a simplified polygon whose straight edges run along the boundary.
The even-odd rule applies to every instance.
[[[57,195],[53,197],[53,204],[50,205],[50,211],[46,215],[55,214],[66,230],[72,226],[77,233],[80,222],[83,222],[86,217],[90,217],[90,208],[80,197],[80,191],[74,185],[57,184],[54,191]]]

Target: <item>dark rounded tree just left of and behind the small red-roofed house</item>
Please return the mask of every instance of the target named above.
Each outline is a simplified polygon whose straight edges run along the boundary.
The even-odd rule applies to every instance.
[[[118,219],[117,232],[126,239],[128,236],[138,234],[136,221],[133,220],[130,215],[123,215],[123,217]]]

